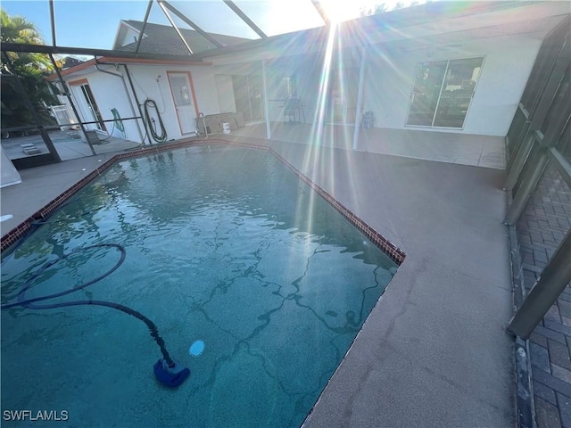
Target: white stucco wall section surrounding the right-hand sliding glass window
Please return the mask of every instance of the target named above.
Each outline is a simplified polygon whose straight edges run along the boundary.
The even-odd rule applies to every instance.
[[[446,44],[443,44],[446,45]],[[463,42],[427,56],[413,52],[368,52],[364,111],[373,111],[376,128],[407,127],[410,93],[418,62],[484,57],[484,65],[463,129],[414,127],[461,134],[506,136],[541,37],[516,35]]]

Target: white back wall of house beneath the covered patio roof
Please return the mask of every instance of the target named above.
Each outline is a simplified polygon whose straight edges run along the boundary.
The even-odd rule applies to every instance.
[[[442,49],[427,49],[426,44],[421,42],[406,51],[401,51],[391,44],[368,46],[362,111],[373,111],[375,128],[413,128],[458,134],[506,136],[543,36],[543,32],[524,33],[456,43],[452,34],[441,38],[439,46],[443,46]],[[264,56],[259,53],[260,59],[256,61],[250,54],[248,59],[252,63],[261,62]],[[336,61],[336,64],[332,65],[334,69],[360,66],[358,48],[334,50],[332,57],[333,61]],[[463,128],[407,126],[410,94],[418,62],[475,57],[483,57],[484,64]],[[283,103],[279,101],[283,94],[279,93],[279,80],[285,76],[296,78],[297,93],[302,97],[307,121],[318,119],[321,106],[327,107],[330,102],[323,99],[327,93],[324,59],[325,53],[266,58],[272,121],[283,119],[280,108]],[[236,64],[244,61],[244,56],[226,55],[219,59],[219,65],[214,69],[232,68],[229,64],[233,61]],[[350,79],[347,83],[355,86],[353,92],[356,92],[358,79]],[[346,123],[354,123],[354,118]]]

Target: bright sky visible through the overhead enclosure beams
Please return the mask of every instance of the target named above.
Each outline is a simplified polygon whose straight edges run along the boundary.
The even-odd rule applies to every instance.
[[[328,1],[343,21],[357,18],[363,8],[383,3],[392,8],[396,3],[396,0]],[[222,0],[170,0],[169,3],[205,31],[258,38]],[[235,0],[234,3],[268,36],[323,25],[310,0]],[[54,0],[56,43],[112,49],[119,21],[144,21],[147,4],[147,0]],[[53,44],[48,0],[2,0],[1,7],[9,15],[20,15],[33,22],[46,44]],[[175,21],[181,28],[189,28],[178,18]],[[149,22],[170,25],[156,3],[153,3]]]

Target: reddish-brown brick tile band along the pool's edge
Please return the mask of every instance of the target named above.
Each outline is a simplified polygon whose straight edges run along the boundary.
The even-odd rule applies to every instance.
[[[8,251],[14,243],[17,243],[19,240],[21,240],[21,238],[26,236],[30,232],[30,230],[32,230],[35,222],[37,222],[38,220],[45,220],[46,218],[48,218],[54,212],[54,210],[60,208],[64,202],[70,199],[71,196],[73,196],[75,193],[78,193],[80,189],[82,189],[85,185],[94,180],[96,177],[100,176],[106,169],[111,168],[114,163],[118,161],[123,161],[125,159],[133,159],[133,158],[148,156],[153,153],[168,152],[186,147],[192,147],[194,145],[203,145],[203,144],[212,144],[212,143],[250,147],[253,149],[266,150],[270,152],[279,161],[281,161],[288,169],[294,172],[294,174],[297,177],[299,177],[306,185],[309,185],[315,192],[319,193],[319,195],[323,199],[325,199],[333,208],[335,208],[335,210],[339,212],[343,216],[343,218],[347,219],[352,224],[352,226],[355,226],[363,235],[367,236],[368,240],[371,243],[374,243],[381,251],[385,252],[385,254],[390,259],[392,259],[394,263],[400,266],[401,263],[406,258],[406,253],[404,251],[402,251],[399,247],[391,243],[388,239],[385,238],[385,236],[379,234],[373,227],[369,226],[361,218],[353,214],[351,210],[348,210],[341,202],[338,202],[333,196],[327,193],[325,189],[315,184],[313,181],[310,180],[309,177],[302,174],[302,172],[299,169],[296,169],[293,164],[285,160],[285,158],[282,155],[277,153],[268,145],[228,141],[223,138],[179,141],[170,144],[154,145],[148,148],[143,148],[136,152],[124,152],[112,156],[112,158],[105,161],[102,165],[98,166],[89,174],[87,174],[86,177],[81,178],[77,183],[71,185],[70,188],[65,190],[63,193],[60,193],[51,202],[46,203],[46,205],[43,208],[37,210],[29,218],[21,222],[20,225],[12,228],[10,232],[8,232],[6,235],[2,237],[2,243],[0,243],[0,253],[4,254],[4,251]]]

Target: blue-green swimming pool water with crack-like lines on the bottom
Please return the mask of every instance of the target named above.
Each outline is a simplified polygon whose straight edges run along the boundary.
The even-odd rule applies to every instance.
[[[4,254],[2,303],[24,286],[25,299],[75,289],[36,306],[119,303],[191,371],[158,383],[157,343],[119,310],[2,310],[3,412],[65,410],[70,426],[299,426],[396,270],[250,148],[120,161],[45,223]]]

